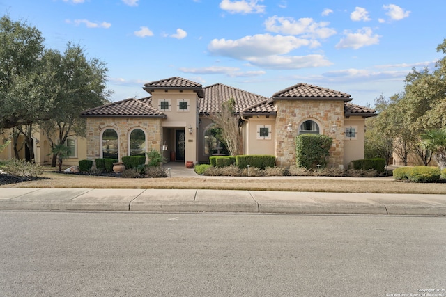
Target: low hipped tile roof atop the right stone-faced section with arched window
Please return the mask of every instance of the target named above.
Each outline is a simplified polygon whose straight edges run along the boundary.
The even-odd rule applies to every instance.
[[[342,93],[337,90],[321,88],[319,86],[309,85],[307,83],[298,83],[272,95],[275,99],[344,99],[350,101],[350,94]]]

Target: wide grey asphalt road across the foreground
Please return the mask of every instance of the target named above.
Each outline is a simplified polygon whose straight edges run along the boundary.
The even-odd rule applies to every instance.
[[[0,212],[0,296],[446,296],[445,255],[445,217]]]

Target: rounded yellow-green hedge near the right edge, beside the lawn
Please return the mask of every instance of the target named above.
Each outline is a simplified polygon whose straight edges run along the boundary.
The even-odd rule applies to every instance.
[[[408,182],[438,182],[440,168],[429,166],[400,167],[393,170],[394,179]]]

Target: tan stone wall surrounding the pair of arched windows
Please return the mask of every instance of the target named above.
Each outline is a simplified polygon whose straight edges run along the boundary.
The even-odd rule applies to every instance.
[[[118,133],[119,151],[121,161],[128,156],[128,135],[134,128],[146,132],[146,147],[160,150],[161,147],[161,119],[160,118],[87,118],[86,119],[86,150],[87,159],[94,160],[101,157],[101,134],[105,129],[112,128]]]

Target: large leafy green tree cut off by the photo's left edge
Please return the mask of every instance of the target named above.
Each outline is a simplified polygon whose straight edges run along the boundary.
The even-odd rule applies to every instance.
[[[48,118],[51,100],[43,92],[44,38],[36,27],[0,19],[0,129]]]

